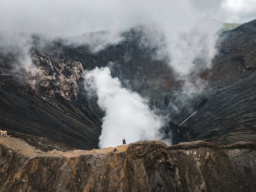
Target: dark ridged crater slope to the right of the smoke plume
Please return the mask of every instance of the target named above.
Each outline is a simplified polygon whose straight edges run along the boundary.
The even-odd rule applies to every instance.
[[[174,116],[180,124],[197,112],[182,125],[191,130],[188,141],[256,141],[255,58],[256,20],[223,34],[219,54],[212,61],[210,88],[188,100]],[[176,100],[177,105],[180,100]]]

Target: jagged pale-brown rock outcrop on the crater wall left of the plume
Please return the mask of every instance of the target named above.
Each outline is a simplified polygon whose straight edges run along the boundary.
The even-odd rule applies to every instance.
[[[53,98],[77,99],[78,82],[85,75],[81,62],[58,60],[53,66],[49,57],[38,52],[33,54],[32,60],[36,66],[29,68],[27,73],[33,91],[43,91]]]

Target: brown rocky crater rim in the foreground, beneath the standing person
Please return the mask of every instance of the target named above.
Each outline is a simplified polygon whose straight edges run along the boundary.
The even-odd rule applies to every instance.
[[[256,143],[42,152],[0,136],[1,191],[256,191]]]

